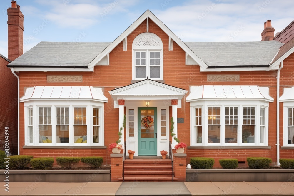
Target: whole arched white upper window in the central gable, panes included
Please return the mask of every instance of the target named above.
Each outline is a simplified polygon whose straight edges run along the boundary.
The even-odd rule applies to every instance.
[[[153,33],[142,33],[133,42],[133,80],[163,80],[163,45]]]

